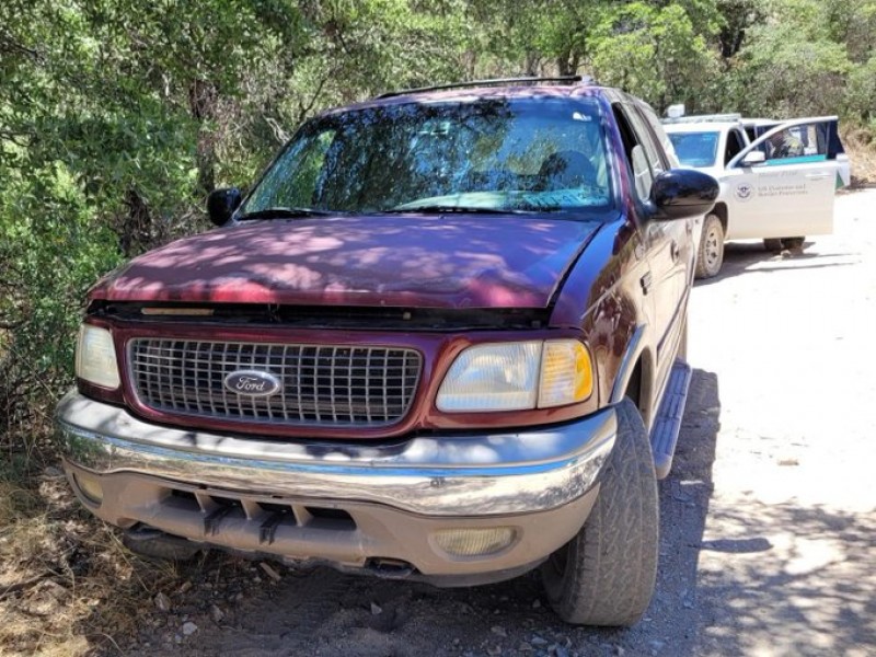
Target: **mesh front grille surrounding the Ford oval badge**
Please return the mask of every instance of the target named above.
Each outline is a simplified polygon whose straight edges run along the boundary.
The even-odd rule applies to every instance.
[[[422,357],[413,349],[137,338],[134,390],[149,408],[232,422],[379,426],[405,416]],[[272,374],[280,390],[252,396],[229,390],[232,372]]]

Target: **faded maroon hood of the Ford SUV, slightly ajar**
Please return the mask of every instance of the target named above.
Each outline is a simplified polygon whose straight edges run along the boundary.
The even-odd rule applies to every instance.
[[[90,299],[544,308],[598,227],[522,215],[240,223],[135,258]]]

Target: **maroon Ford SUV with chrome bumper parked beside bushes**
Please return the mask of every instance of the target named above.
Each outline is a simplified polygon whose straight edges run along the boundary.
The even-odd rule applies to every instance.
[[[568,79],[387,94],[306,123],[219,228],[90,292],[58,407],[82,503],[151,554],[218,546],[439,586],[542,567],[634,623],[693,219],[653,111]]]

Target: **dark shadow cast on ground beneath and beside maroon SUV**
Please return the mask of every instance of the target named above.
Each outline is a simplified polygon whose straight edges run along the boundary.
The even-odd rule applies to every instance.
[[[660,483],[657,593],[645,619],[631,630],[565,625],[548,608],[538,574],[494,586],[437,589],[280,566],[275,567],[281,579],[274,583],[252,565],[242,599],[229,604],[227,589],[215,584],[222,577],[221,562],[215,562],[192,574],[199,581],[189,593],[200,596],[196,604],[201,611],[187,618],[198,631],[181,641],[185,620],[174,616],[165,630],[145,632],[131,650],[158,655],[173,647],[185,655],[238,657],[692,655],[698,558],[719,411],[717,377],[694,370],[673,471]],[[210,586],[206,591],[205,584]],[[222,614],[218,623],[209,611],[212,604]],[[670,635],[676,638],[668,645]]]

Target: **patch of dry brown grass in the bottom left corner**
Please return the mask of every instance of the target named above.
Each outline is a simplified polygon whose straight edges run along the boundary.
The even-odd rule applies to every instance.
[[[0,655],[118,653],[138,612],[177,578],[131,555],[80,508],[64,475],[0,471]]]

